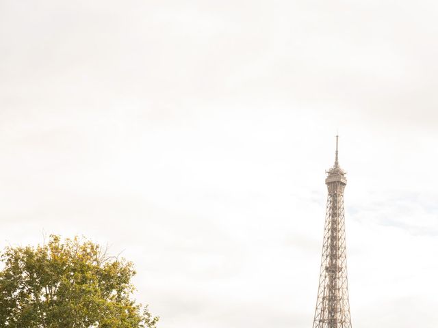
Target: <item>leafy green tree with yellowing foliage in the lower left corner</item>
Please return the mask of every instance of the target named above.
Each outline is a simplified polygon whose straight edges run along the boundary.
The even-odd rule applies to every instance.
[[[155,328],[132,299],[133,264],[88,240],[50,236],[1,254],[0,327]]]

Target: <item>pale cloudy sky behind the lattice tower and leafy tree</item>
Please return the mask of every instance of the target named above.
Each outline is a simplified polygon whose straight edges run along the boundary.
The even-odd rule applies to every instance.
[[[160,328],[308,328],[324,170],[355,328],[438,322],[437,1],[0,0],[0,247],[136,264]]]

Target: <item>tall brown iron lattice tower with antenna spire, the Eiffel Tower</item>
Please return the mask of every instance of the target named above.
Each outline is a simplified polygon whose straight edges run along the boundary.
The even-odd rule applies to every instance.
[[[329,195],[313,328],[351,328],[344,216],[347,179],[346,172],[339,167],[337,141],[338,136],[335,165],[326,172]]]

